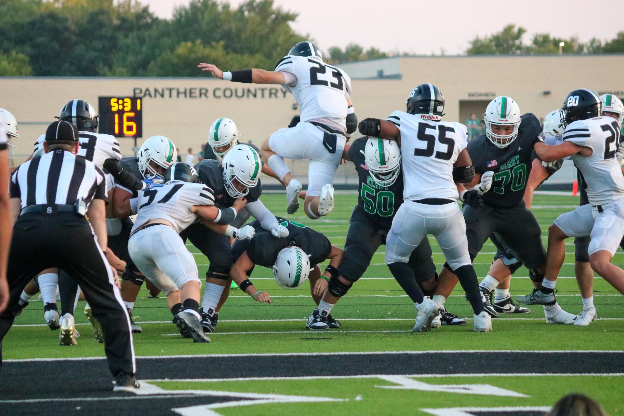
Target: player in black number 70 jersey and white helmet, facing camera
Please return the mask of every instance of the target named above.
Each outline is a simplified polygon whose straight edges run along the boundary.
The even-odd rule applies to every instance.
[[[468,153],[474,163],[474,181],[479,183],[485,172],[494,172],[492,190],[481,200],[464,207],[466,235],[472,259],[477,256],[485,241],[493,233],[509,246],[515,256],[529,269],[530,279],[539,286],[544,278],[546,252],[542,244],[542,230],[535,216],[523,201],[527,178],[529,178],[535,143],[540,142],[542,124],[535,115],[520,115],[520,108],[510,97],[496,97],[485,110],[485,135],[468,143]],[[470,188],[470,185],[467,188]],[[445,266],[440,274],[434,301],[444,302],[451,294],[457,278]],[[491,304],[494,289],[500,282],[494,276],[487,276],[479,288],[483,294],[484,307],[492,317],[498,312]],[[497,301],[499,307],[514,308],[519,312],[511,297]],[[570,316],[557,302],[544,307],[547,322],[565,323]]]

